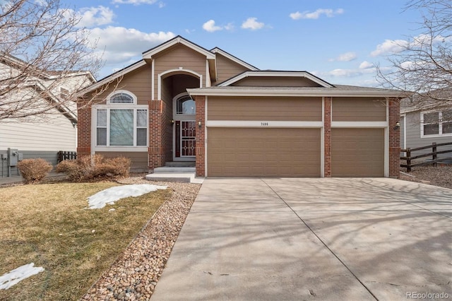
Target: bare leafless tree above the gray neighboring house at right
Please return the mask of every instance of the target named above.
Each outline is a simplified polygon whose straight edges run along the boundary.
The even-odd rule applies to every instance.
[[[417,10],[422,22],[417,35],[398,46],[388,60],[391,68],[377,69],[386,88],[412,95],[405,105],[440,109],[452,105],[452,1],[412,0],[406,10]]]

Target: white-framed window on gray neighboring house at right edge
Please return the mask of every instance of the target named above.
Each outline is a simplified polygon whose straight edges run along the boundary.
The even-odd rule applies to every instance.
[[[452,110],[421,113],[421,136],[452,136]]]

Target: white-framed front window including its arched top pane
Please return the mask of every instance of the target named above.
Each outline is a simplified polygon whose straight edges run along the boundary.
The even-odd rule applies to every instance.
[[[148,109],[136,96],[117,91],[97,105],[96,146],[148,146]]]

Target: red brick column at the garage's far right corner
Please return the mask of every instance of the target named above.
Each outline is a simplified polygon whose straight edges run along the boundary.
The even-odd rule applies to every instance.
[[[398,179],[400,177],[400,100],[390,98],[389,106],[389,177]]]

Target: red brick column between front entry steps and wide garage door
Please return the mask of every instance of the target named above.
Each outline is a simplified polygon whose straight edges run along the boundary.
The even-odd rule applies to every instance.
[[[206,96],[194,96],[196,102],[196,176],[206,177]],[[198,123],[201,122],[201,128]]]

